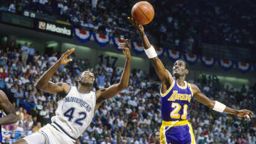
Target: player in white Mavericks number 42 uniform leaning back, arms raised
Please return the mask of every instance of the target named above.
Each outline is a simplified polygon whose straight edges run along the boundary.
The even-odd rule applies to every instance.
[[[51,118],[52,123],[43,126],[38,133],[33,133],[18,140],[16,144],[75,143],[75,140],[90,125],[92,117],[100,104],[106,99],[114,97],[128,86],[131,64],[130,42],[125,40],[125,43],[119,46],[126,57],[122,77],[119,83],[113,84],[107,89],[100,89],[97,92],[92,92],[95,76],[88,71],[82,72],[78,77],[78,87],[70,87],[70,85],[62,82],[57,84],[50,82],[50,77],[53,76],[60,65],[72,61],[72,59],[68,59],[68,56],[75,49],[66,51],[58,62],[50,67],[36,83],[36,87],[44,92],[65,95],[63,99],[58,101],[58,109],[55,111],[56,116]]]

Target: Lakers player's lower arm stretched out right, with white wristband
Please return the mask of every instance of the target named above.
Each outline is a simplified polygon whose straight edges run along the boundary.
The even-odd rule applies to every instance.
[[[228,106],[225,106],[224,104],[221,104],[219,101],[210,100],[207,96],[205,96],[204,94],[201,93],[200,89],[195,84],[191,84],[191,88],[193,90],[193,97],[195,97],[196,100],[198,100],[202,104],[208,106],[210,109],[219,111],[221,113],[222,112],[230,113],[235,116],[247,118],[249,120],[253,116],[252,111],[249,111],[247,109],[236,110],[236,109],[232,109]]]

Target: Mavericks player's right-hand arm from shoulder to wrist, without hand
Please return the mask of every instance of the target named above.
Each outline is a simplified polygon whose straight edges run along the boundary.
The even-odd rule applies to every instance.
[[[122,72],[122,77],[119,83],[113,84],[107,89],[100,89],[96,92],[96,96],[97,96],[96,109],[100,106],[100,104],[102,104],[103,101],[114,97],[116,94],[118,94],[119,92],[122,92],[123,89],[126,89],[128,87],[130,69],[131,69],[131,59],[127,58],[124,65],[124,70]]]

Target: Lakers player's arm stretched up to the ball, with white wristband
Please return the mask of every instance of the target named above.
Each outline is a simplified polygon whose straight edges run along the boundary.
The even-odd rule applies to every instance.
[[[159,57],[157,57],[156,51],[154,50],[154,47],[149,43],[149,39],[146,37],[146,34],[144,33],[144,28],[141,24],[137,23],[133,18],[128,17],[128,20],[132,25],[137,28],[137,31],[139,31],[139,35],[142,38],[142,43],[145,48],[146,55],[149,57],[149,60],[154,65],[154,68],[156,70],[156,74],[159,76],[162,82],[169,82],[173,79],[171,78],[171,74],[165,69],[164,64],[161,62]],[[171,86],[171,84],[168,84]]]

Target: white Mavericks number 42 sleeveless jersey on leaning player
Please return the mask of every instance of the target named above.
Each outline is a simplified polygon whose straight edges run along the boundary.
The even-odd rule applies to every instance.
[[[60,132],[76,140],[90,125],[96,106],[96,94],[83,94],[77,87],[70,87],[67,96],[58,101],[56,116],[51,118],[52,124]]]

